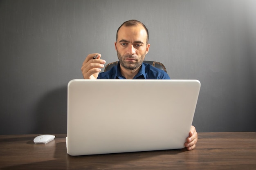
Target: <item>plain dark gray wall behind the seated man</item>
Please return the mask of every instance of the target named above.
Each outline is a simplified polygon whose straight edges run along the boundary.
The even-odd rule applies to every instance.
[[[67,83],[89,53],[117,60],[130,19],[147,60],[200,80],[198,132],[256,131],[255,18],[255,0],[0,0],[0,134],[66,133]]]

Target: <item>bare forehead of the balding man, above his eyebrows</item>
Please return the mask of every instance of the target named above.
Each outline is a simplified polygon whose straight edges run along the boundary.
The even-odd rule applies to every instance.
[[[141,25],[121,26],[117,33],[117,42],[120,40],[146,42],[147,32]]]

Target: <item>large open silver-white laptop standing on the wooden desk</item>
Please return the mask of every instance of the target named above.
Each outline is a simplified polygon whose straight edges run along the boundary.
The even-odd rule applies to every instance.
[[[67,154],[184,148],[199,91],[198,80],[71,80]]]

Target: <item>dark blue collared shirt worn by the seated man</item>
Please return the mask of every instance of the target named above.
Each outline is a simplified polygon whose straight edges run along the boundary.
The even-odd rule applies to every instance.
[[[126,79],[121,75],[120,64],[113,66],[109,71],[99,73],[97,79]],[[141,68],[133,79],[170,79],[169,75],[159,68],[155,68],[150,64],[142,63]]]

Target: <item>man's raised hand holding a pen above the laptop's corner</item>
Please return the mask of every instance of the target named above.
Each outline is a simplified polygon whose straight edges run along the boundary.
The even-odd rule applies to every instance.
[[[104,68],[105,60],[101,60],[101,54],[89,54],[81,67],[84,79],[97,79],[101,68]]]

